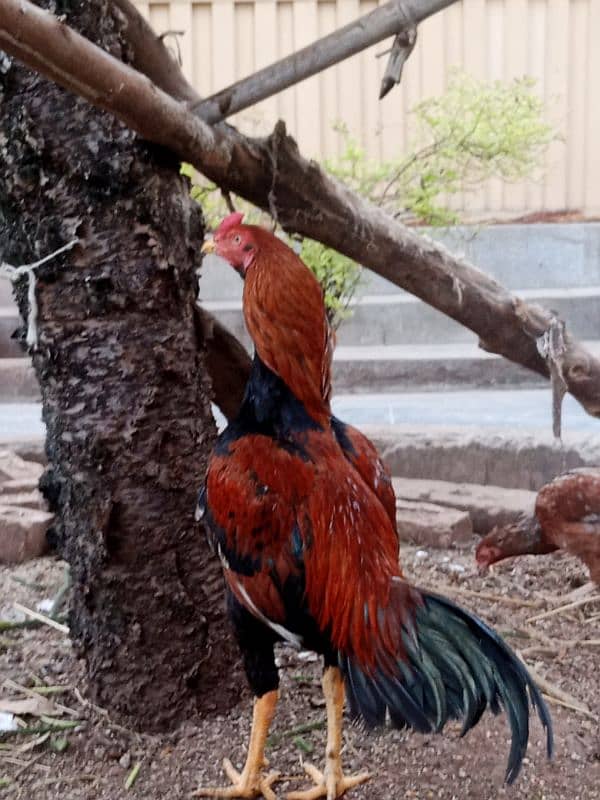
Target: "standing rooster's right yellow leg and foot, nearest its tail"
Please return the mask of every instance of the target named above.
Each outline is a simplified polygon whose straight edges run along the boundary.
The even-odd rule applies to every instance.
[[[364,783],[371,776],[368,772],[346,778],[342,772],[342,715],[344,712],[344,679],[337,667],[327,667],[323,673],[323,694],[327,706],[327,749],[325,772],[305,764],[304,769],[316,786],[303,792],[290,792],[287,800],[317,800],[326,797],[335,800],[345,791]]]

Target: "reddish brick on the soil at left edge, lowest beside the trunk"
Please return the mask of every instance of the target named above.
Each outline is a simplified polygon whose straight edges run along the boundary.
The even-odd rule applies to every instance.
[[[0,505],[0,563],[15,564],[41,556],[53,519],[46,511]]]

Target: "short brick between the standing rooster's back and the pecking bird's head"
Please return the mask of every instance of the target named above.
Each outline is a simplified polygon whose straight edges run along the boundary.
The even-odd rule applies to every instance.
[[[396,520],[401,542],[424,547],[464,545],[473,536],[471,518],[466,512],[434,503],[398,500]]]

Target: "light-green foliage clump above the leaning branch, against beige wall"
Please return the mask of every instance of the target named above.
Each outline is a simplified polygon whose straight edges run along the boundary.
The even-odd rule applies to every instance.
[[[414,135],[408,153],[370,161],[344,125],[344,149],[328,171],[358,194],[405,221],[448,225],[459,221],[449,198],[488,178],[531,177],[556,134],[543,118],[535,81],[483,82],[452,73],[446,92],[411,112]]]

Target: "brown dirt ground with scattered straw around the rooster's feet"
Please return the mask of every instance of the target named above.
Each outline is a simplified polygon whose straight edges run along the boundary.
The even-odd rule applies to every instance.
[[[425,552],[405,547],[403,553],[405,571],[416,583],[477,611],[523,653],[538,675],[567,693],[563,702],[581,708],[551,701],[556,740],[552,762],[545,758],[541,726],[532,720],[529,750],[513,787],[503,785],[508,732],[502,717],[484,716],[464,739],[455,726],[443,735],[422,736],[405,731],[367,734],[347,725],[346,770],[374,773],[348,797],[600,800],[600,601],[527,621],[564,604],[562,598],[586,580],[584,568],[562,555],[528,557],[480,577],[472,549]],[[14,601],[35,607],[52,594],[62,575],[63,565],[52,558],[0,568],[0,619],[14,619]],[[321,764],[325,732],[319,664],[287,649],[280,650],[279,660],[282,697],[268,756],[284,775],[275,787],[277,796],[284,797],[291,788],[309,785],[301,763]],[[74,659],[68,638],[45,626],[0,631],[0,675],[2,699],[27,697],[10,681],[63,687],[60,693],[42,691],[56,691],[47,697],[61,704],[56,709],[60,720],[81,722],[50,733],[39,719],[26,717],[34,732],[0,734],[0,796],[175,800],[188,797],[200,784],[224,783],[224,756],[239,766],[243,762],[249,697],[226,716],[194,719],[175,733],[137,734],[86,703],[82,665]]]

